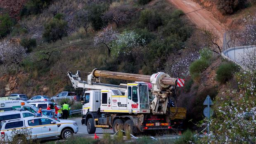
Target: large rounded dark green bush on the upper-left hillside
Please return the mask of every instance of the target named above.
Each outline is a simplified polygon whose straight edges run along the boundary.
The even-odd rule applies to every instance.
[[[62,37],[67,35],[67,22],[62,19],[52,19],[45,24],[43,38],[47,42],[62,40]]]

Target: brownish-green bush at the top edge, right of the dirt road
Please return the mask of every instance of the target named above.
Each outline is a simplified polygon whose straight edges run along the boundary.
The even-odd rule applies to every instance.
[[[246,6],[247,0],[218,0],[217,7],[222,14],[233,14]]]

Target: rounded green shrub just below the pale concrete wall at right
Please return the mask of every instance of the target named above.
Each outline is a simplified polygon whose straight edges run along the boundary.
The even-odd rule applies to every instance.
[[[230,80],[237,71],[239,71],[239,66],[232,62],[221,64],[216,71],[216,80],[220,83],[225,83]]]

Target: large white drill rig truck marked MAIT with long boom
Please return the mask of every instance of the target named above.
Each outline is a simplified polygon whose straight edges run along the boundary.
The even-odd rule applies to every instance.
[[[178,111],[175,87],[184,86],[183,79],[171,78],[161,72],[146,76],[96,68],[87,81],[81,80],[80,71],[76,74],[68,72],[68,76],[75,89],[85,90],[81,98],[81,122],[87,125],[89,134],[95,133],[96,127],[130,133],[171,129],[170,118]],[[100,83],[100,78],[134,83],[110,85]],[[170,107],[175,107],[175,111],[170,111]]]

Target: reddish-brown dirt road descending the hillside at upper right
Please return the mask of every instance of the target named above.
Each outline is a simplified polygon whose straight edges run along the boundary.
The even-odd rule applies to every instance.
[[[175,7],[178,9],[181,9],[184,13],[192,12],[197,9],[201,9],[202,7],[197,4],[196,2],[193,2],[192,0],[168,0],[171,2]],[[192,12],[190,14],[187,14],[187,17],[196,24],[196,26],[200,28],[206,27],[208,30],[214,30],[216,33],[218,33],[220,42],[219,45],[223,45],[223,35],[224,35],[224,27],[220,22],[213,17],[213,14],[206,9],[201,9],[196,12]]]

